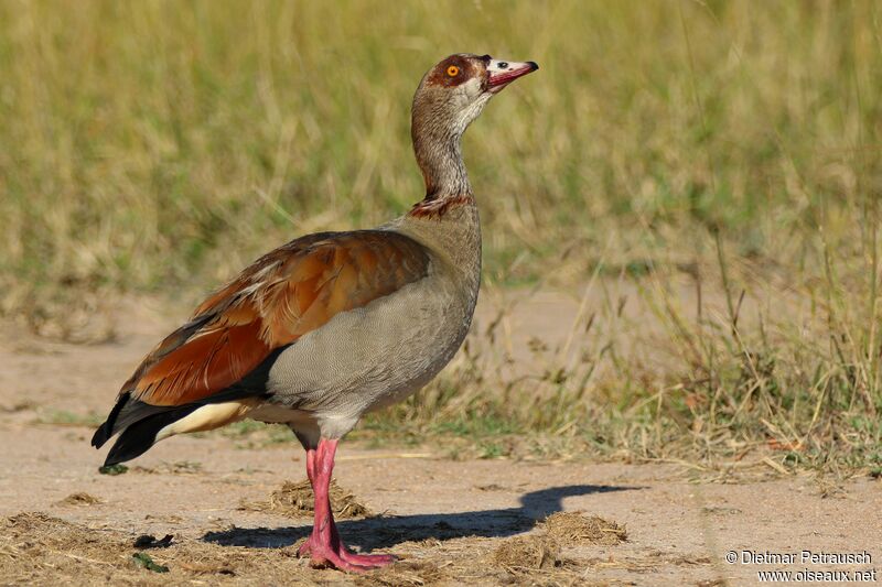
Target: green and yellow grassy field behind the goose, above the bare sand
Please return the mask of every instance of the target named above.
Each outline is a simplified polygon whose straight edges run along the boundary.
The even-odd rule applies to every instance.
[[[465,137],[485,236],[466,350],[363,433],[878,474],[881,12],[2,2],[0,308],[108,344],[126,301],[183,316],[291,238],[400,215],[422,74],[533,59]]]

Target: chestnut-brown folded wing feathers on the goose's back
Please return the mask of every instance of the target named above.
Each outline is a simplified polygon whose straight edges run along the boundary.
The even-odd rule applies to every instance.
[[[426,276],[428,265],[426,249],[396,232],[291,241],[203,302],[147,356],[120,395],[155,406],[209,399],[336,314]]]

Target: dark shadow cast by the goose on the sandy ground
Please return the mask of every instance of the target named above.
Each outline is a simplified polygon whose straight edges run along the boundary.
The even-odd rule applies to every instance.
[[[633,491],[642,487],[570,485],[530,491],[520,497],[517,508],[464,511],[455,513],[420,513],[377,515],[337,522],[346,542],[361,551],[388,548],[402,542],[464,536],[506,537],[533,529],[539,520],[562,511],[563,499],[592,493]],[[312,532],[311,524],[287,528],[233,528],[207,532],[202,540],[222,546],[279,548],[290,546]]]

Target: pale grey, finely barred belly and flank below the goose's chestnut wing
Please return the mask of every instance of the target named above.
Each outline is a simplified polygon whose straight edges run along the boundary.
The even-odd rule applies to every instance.
[[[474,294],[423,279],[338,314],[282,351],[267,381],[270,402],[315,420],[357,420],[428,383],[462,344]]]

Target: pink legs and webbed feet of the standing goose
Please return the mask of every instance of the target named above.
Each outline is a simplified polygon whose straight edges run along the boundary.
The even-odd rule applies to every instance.
[[[300,547],[299,554],[311,557],[313,566],[331,565],[341,570],[363,572],[388,565],[395,557],[388,554],[355,554],[340,540],[334,514],[331,511],[329,490],[334,470],[334,453],[338,441],[319,441],[315,450],[306,450],[306,476],[315,497],[315,522],[312,534]]]

